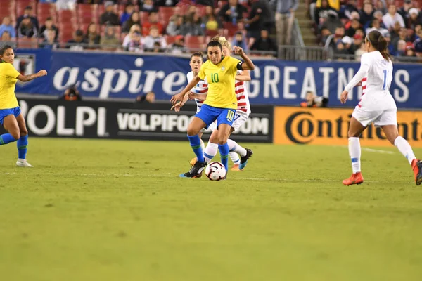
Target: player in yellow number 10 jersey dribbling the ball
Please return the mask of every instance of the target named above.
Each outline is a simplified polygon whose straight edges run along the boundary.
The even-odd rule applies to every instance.
[[[192,166],[190,171],[181,174],[181,177],[199,178],[202,176],[203,169],[207,163],[204,159],[198,133],[201,129],[210,126],[215,120],[217,120],[217,141],[222,164],[224,164],[226,171],[228,170],[229,145],[227,145],[227,139],[230,135],[237,108],[237,98],[234,90],[236,72],[237,70],[253,70],[255,68],[252,60],[248,58],[242,48],[234,47],[234,53],[240,55],[245,62],[230,56],[224,57],[222,45],[218,41],[210,41],[207,45],[207,62],[201,65],[198,75],[192,79],[188,86],[177,95],[172,96],[170,100],[174,106],[180,106],[179,102],[184,100],[186,93],[196,86],[200,80],[207,79],[207,99],[188,126],[188,139],[198,161]]]

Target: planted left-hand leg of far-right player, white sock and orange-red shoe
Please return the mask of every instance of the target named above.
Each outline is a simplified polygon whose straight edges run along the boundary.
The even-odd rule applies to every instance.
[[[350,178],[346,178],[343,181],[344,185],[354,185],[354,184],[361,184],[364,182],[364,177],[361,173],[361,166],[360,166],[360,157],[361,157],[361,147],[359,136],[362,132],[366,129],[366,127],[362,126],[356,118],[352,117],[350,119],[350,127],[349,127],[349,156],[352,160],[352,176]]]

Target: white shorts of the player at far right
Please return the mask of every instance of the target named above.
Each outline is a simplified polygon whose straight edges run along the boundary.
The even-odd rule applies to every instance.
[[[372,122],[375,126],[397,126],[397,109],[365,111],[361,107],[354,107],[352,116],[359,121],[362,126],[369,126]]]

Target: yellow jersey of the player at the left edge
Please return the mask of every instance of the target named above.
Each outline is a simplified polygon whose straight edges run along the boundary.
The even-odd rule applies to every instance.
[[[0,63],[0,110],[19,106],[15,96],[16,81],[20,73],[10,63]]]

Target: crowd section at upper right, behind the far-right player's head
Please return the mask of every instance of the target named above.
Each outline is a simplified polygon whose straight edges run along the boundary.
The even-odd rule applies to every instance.
[[[309,1],[309,0],[308,0]],[[422,1],[313,0],[309,15],[314,20],[320,46],[331,48],[337,58],[360,60],[364,39],[378,30],[388,41],[390,55],[400,60],[422,56]]]

